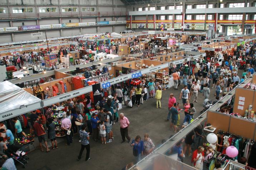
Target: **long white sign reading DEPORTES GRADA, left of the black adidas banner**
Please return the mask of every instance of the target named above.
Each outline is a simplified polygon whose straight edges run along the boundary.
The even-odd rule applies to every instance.
[[[51,98],[48,98],[48,99],[44,99],[42,101],[43,102],[43,107],[54,104],[54,103],[58,103],[58,102],[61,102],[61,101],[65,101],[67,99],[78,97],[78,96],[81,96],[82,94],[89,93],[89,92],[92,92],[92,91],[93,91],[92,86],[87,86],[87,87],[83,87],[83,88],[80,88],[80,89],[77,89],[77,90],[74,90],[74,91],[71,91],[71,92],[68,92],[68,93],[63,93],[63,94],[60,94],[58,96],[54,96],[54,97],[51,97]]]

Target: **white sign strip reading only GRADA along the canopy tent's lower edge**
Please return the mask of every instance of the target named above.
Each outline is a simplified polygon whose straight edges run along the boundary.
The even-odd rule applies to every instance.
[[[13,117],[20,115],[21,113],[28,113],[40,108],[42,108],[41,101],[38,103],[33,103],[31,105],[22,106],[19,109],[10,110],[8,112],[1,113],[0,121],[11,119]]]

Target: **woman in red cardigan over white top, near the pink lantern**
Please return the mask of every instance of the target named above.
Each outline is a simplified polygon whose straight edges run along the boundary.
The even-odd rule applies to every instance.
[[[191,162],[193,167],[198,170],[203,170],[203,158],[205,156],[205,153],[203,152],[204,150],[203,146],[199,146],[192,155]]]

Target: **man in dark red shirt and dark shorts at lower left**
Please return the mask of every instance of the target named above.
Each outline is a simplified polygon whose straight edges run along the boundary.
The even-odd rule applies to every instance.
[[[50,149],[48,148],[48,145],[47,145],[45,129],[42,124],[38,123],[38,119],[34,119],[33,129],[35,130],[35,134],[38,138],[41,151],[42,152],[44,151],[43,146],[42,146],[42,141],[44,141],[44,144],[46,147],[46,152],[49,152]]]

